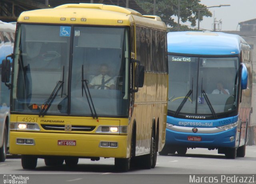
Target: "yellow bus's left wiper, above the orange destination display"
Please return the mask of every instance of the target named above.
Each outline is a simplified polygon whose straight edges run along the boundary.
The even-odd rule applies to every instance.
[[[61,97],[62,97],[62,93],[63,93],[63,84],[64,84],[64,66],[63,66],[63,71],[62,71],[62,81],[58,81],[54,90],[52,91],[52,94],[50,95],[50,97],[46,100],[46,102],[41,106],[41,110],[39,112],[39,117],[42,116],[44,117],[44,115],[46,114],[46,112],[48,111],[48,109],[50,108],[50,106],[52,105],[52,102],[54,101],[54,99],[56,98],[57,94],[60,91],[60,88],[62,88],[61,90]]]

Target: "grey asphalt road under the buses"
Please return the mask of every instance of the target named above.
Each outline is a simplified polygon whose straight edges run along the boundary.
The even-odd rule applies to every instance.
[[[44,160],[38,159],[35,170],[24,170],[20,156],[8,155],[5,162],[0,162],[0,174],[3,176],[3,179],[0,178],[0,183],[4,183],[4,178],[8,178],[9,174],[17,177],[16,183],[23,180],[26,184],[192,184],[198,181],[200,183],[230,183],[222,179],[234,175],[254,177],[252,180],[254,182],[247,181],[247,183],[256,183],[256,146],[246,146],[246,156],[236,159],[226,159],[224,154],[218,154],[217,150],[203,148],[188,149],[185,156],[158,155],[154,169],[132,168],[129,172],[116,172],[113,158],[101,158],[99,161],[79,159],[76,168],[67,168],[65,164],[45,166]],[[205,177],[206,180],[202,181]]]

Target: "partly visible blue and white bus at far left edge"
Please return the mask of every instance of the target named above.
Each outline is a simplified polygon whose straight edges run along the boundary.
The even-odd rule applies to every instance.
[[[13,53],[16,26],[0,21],[0,78],[2,60]],[[10,90],[0,83],[0,162],[6,159],[10,121]]]

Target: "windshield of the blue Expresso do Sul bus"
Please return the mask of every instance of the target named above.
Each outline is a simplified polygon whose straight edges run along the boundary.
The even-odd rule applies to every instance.
[[[197,115],[236,109],[238,57],[168,55],[168,111]]]

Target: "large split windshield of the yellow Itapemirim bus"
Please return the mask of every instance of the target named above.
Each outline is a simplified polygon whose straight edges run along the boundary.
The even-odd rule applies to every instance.
[[[127,39],[126,28],[18,25],[12,111],[127,116]]]

